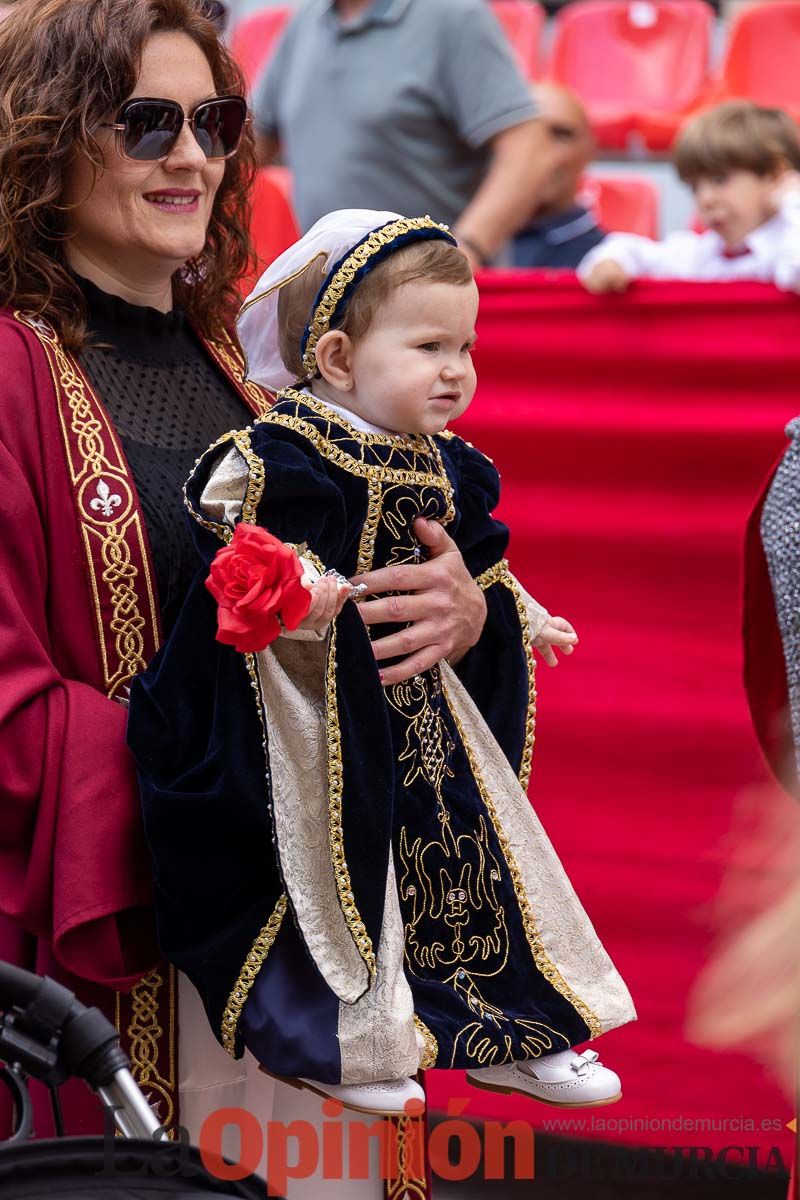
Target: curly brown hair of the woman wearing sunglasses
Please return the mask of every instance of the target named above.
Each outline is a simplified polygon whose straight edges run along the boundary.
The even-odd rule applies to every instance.
[[[102,168],[92,130],[131,95],[156,31],[187,34],[221,94],[245,95],[241,72],[203,0],[17,0],[0,23],[0,307],[42,314],[65,346],[86,344],[86,310],[67,270],[62,203],[76,154]],[[175,304],[206,334],[229,325],[236,281],[252,269],[246,131],[225,163],[203,252],[173,276]]]

